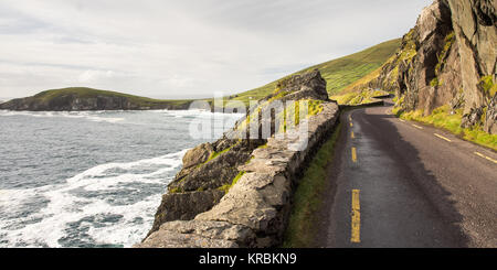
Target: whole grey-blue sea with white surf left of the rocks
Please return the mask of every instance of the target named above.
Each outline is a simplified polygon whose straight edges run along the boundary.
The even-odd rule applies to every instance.
[[[0,247],[131,247],[188,149],[241,117],[0,110]],[[192,133],[199,119],[212,123],[212,138]]]

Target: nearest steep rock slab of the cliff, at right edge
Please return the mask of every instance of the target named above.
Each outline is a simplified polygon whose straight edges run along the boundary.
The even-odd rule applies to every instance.
[[[448,0],[459,42],[461,78],[465,101],[463,126],[483,122],[497,133],[497,1]]]

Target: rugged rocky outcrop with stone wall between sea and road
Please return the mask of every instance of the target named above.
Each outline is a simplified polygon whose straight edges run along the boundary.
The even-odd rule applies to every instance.
[[[163,195],[154,228],[136,247],[273,247],[281,244],[300,172],[332,132],[338,119],[337,104],[329,101],[325,94],[326,82],[319,72],[296,75],[283,82],[275,95],[252,108],[223,138],[190,150],[184,155],[183,169],[168,186],[169,193]],[[299,119],[299,127],[307,127],[304,150],[290,147],[302,139],[297,129],[288,129],[282,138],[272,132],[269,138],[229,139],[233,133],[247,132],[252,125],[247,120],[254,117],[261,120],[260,128],[264,121],[275,125],[273,117],[266,119],[257,112],[288,97],[318,100],[320,106],[319,114]],[[218,201],[220,191],[223,191],[222,198]],[[197,206],[200,202],[203,202],[201,207]]]

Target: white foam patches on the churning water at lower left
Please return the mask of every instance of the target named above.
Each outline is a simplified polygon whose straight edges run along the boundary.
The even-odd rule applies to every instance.
[[[0,212],[17,209],[22,204],[42,195],[47,204],[39,212],[15,219],[0,218],[0,236],[8,242],[0,246],[61,247],[60,240],[68,237],[70,225],[81,223],[83,218],[102,218],[103,215],[118,216],[117,222],[102,222],[95,226],[92,222],[82,223],[96,245],[123,245],[130,247],[145,237],[154,222],[155,210],[160,203],[161,193],[151,194],[134,204],[110,204],[105,196],[85,197],[88,192],[113,192],[133,188],[130,183],[166,184],[171,179],[163,174],[178,169],[187,150],[154,159],[129,163],[108,163],[88,169],[66,181],[64,184],[49,185],[29,190],[0,191]],[[130,173],[139,169],[156,168],[147,173]],[[109,170],[123,173],[107,174]],[[136,188],[136,187],[135,187]],[[77,193],[82,192],[82,193]],[[123,194],[126,196],[126,194]],[[141,219],[139,224],[136,219]],[[22,226],[25,224],[25,226]],[[15,226],[20,225],[20,226]]]

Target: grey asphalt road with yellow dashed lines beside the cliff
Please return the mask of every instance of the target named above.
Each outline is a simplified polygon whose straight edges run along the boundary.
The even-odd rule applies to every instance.
[[[316,246],[496,248],[497,153],[390,106],[342,114]]]

